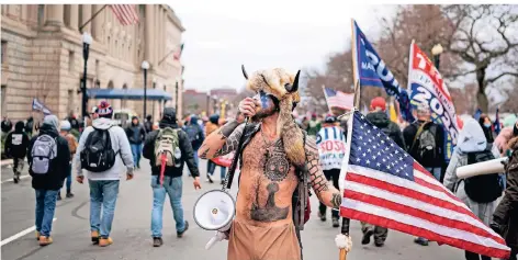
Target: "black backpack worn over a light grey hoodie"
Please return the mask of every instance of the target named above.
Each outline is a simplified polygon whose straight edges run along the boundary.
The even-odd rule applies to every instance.
[[[81,169],[91,172],[103,172],[115,165],[116,154],[112,149],[109,129],[95,128],[87,137],[85,149],[80,154]]]

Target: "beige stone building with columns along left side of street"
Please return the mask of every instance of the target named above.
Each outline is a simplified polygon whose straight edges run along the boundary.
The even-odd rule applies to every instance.
[[[59,118],[72,111],[81,114],[80,80],[83,74],[82,38],[79,27],[104,4],[2,4],[1,95],[2,116],[13,122],[32,114],[32,101],[43,102]],[[184,31],[166,4],[138,4],[139,22],[122,25],[111,8],[104,8],[83,32],[91,34],[87,88],[143,89],[143,60],[150,64],[147,88],[179,93],[181,114],[181,64],[172,53]],[[178,80],[178,92],[176,84]],[[90,100],[88,110],[99,100]],[[114,109],[143,114],[143,101],[109,100]],[[155,118],[164,103],[147,101]]]

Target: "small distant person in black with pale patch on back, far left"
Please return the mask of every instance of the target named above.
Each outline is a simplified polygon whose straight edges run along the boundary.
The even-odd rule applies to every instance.
[[[24,132],[24,124],[22,121],[16,122],[14,125],[14,132],[11,132],[5,137],[5,145],[3,147],[5,156],[13,158],[14,173],[13,181],[18,183],[20,181],[20,173],[23,169],[25,156],[29,147],[29,135]]]

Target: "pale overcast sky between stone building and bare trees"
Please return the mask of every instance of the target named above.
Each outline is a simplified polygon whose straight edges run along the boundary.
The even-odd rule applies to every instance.
[[[329,53],[350,46],[352,18],[374,41],[380,18],[395,10],[342,0],[301,2],[173,0],[171,7],[187,30],[182,35],[185,88],[241,88],[241,64],[248,74],[273,67],[293,72],[323,68]]]

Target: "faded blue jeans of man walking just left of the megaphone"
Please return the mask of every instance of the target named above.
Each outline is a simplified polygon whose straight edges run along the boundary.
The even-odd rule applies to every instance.
[[[166,193],[169,194],[169,202],[171,203],[172,215],[177,223],[177,233],[185,229],[185,222],[183,221],[182,207],[182,178],[171,178],[166,176],[164,178],[164,185],[159,183],[159,177],[151,177],[153,188],[153,211],[151,211],[151,234],[153,237],[161,237],[162,229],[162,213],[164,201]]]

